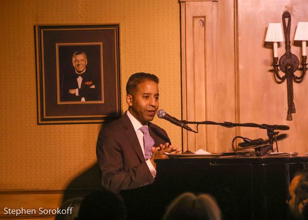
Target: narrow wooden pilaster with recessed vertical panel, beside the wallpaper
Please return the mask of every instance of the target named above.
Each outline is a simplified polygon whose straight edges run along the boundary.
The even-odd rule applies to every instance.
[[[183,11],[183,9],[182,9]],[[186,106],[183,118],[187,121],[204,121],[207,118],[207,98],[209,97],[207,81],[213,76],[213,3],[187,2],[185,3],[185,51],[186,69],[182,72],[187,90],[183,93]],[[215,21],[216,22],[216,21]],[[182,52],[183,53],[183,52]],[[184,112],[183,111],[183,112]],[[191,126],[193,127],[193,126]],[[196,129],[196,127],[194,128]],[[200,126],[199,135],[186,133],[187,146],[206,148],[208,141],[207,127]],[[184,150],[188,149],[183,146]]]

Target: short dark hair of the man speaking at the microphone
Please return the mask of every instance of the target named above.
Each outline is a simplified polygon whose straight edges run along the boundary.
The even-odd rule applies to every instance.
[[[132,74],[126,84],[126,94],[132,94],[132,92],[136,89],[137,85],[143,83],[145,81],[153,81],[155,83],[159,83],[159,78],[150,73],[134,73]]]

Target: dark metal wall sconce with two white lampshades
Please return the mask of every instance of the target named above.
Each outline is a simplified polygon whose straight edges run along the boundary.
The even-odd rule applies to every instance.
[[[287,21],[287,22],[286,22]],[[293,81],[295,83],[301,83],[306,73],[306,41],[308,41],[308,22],[299,22],[294,41],[302,41],[302,71],[300,76],[296,76],[294,72],[298,69],[299,60],[296,55],[291,53],[291,41],[290,41],[290,30],[291,30],[291,14],[284,12],[282,14],[283,33],[285,39],[285,53],[280,57],[278,63],[278,42],[283,42],[281,24],[280,23],[269,23],[265,42],[273,42],[274,49],[274,73],[278,80],[277,82],[282,83],[286,79],[287,87],[287,117],[288,121],[292,120],[292,113],[295,113],[294,105],[294,93],[293,93]],[[279,69],[284,72],[283,76],[280,76]]]

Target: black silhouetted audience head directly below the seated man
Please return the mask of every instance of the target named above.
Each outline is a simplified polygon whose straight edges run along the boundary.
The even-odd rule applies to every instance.
[[[126,207],[122,197],[110,190],[91,192],[83,199],[78,220],[124,220]]]

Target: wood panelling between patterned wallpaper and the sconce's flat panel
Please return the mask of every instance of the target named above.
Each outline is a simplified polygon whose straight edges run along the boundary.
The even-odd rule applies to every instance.
[[[234,47],[230,46],[234,31],[233,24],[224,23],[233,21],[230,5],[223,1],[181,3],[182,109],[187,121],[226,119],[222,115],[231,121],[236,118],[235,55]],[[219,50],[223,52],[218,53]],[[229,135],[222,134],[229,133],[218,126],[201,125],[198,134],[184,131],[183,148],[223,151]]]

